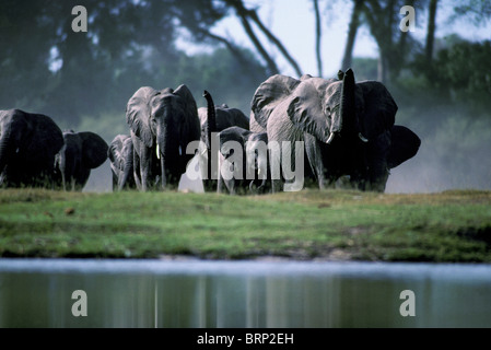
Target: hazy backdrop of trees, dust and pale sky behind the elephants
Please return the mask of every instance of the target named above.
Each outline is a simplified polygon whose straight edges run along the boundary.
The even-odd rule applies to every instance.
[[[86,33],[71,30],[74,5]],[[402,33],[402,5],[416,31]],[[486,0],[2,0],[0,109],[51,116],[108,143],[129,133],[125,108],[140,86],[185,83],[246,115],[273,73],[383,81],[417,132],[416,158],[388,192],[491,189],[491,1]],[[108,162],[85,190],[110,190]]]

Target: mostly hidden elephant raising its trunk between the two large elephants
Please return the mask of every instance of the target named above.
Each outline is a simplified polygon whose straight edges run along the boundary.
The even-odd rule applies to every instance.
[[[237,108],[230,108],[222,104],[215,106],[213,97],[208,91],[203,92],[203,97],[207,100],[207,107],[198,109],[198,116],[201,124],[201,141],[206,145],[207,151],[199,152],[199,166],[201,171],[201,178],[203,179],[203,188],[206,191],[217,189],[217,164],[212,162],[213,154],[211,153],[212,135],[225,130],[226,128],[236,126],[243,129],[249,128],[249,118]]]

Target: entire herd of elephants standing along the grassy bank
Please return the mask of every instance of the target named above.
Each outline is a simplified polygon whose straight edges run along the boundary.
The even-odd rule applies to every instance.
[[[262,82],[250,116],[207,107],[186,85],[140,88],[128,101],[128,135],[107,144],[94,132],[62,132],[44,115],[0,110],[0,186],[81,190],[110,161],[113,189],[175,188],[183,174],[206,191],[262,194],[349,186],[384,191],[389,170],[414,156],[419,137],[395,125],[397,105],[376,81],[276,74]],[[192,165],[195,164],[195,166]]]

